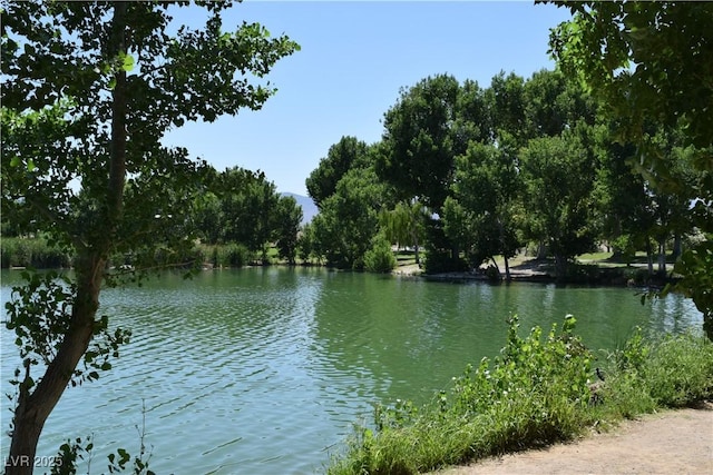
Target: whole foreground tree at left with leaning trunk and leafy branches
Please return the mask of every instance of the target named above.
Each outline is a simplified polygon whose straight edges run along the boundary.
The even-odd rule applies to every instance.
[[[77,256],[68,287],[36,276],[8,305],[26,358],[14,382],[8,474],[32,472],[42,426],[68,383],[98,377],[125,339],[97,317],[102,283],[116,281],[109,256],[192,243],[176,230],[189,229],[201,166],[185,149],[163,147],[163,135],[185,121],[260,109],[274,89],[255,80],[297,49],[260,24],[225,32],[221,11],[229,3],[203,7],[203,30],[170,36],[165,3],[7,3],[2,215],[35,219]],[[38,299],[48,293],[52,299]],[[30,315],[38,307],[29,301],[42,311]],[[49,333],[38,318],[51,324]],[[45,373],[33,374],[41,362]]]

